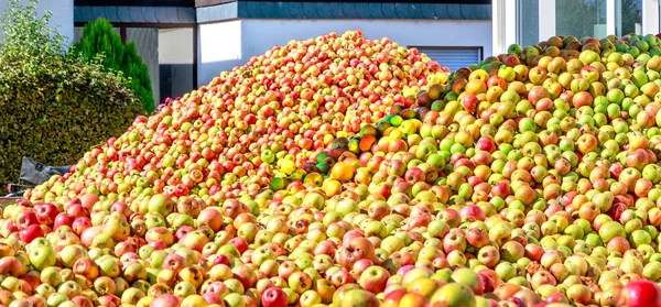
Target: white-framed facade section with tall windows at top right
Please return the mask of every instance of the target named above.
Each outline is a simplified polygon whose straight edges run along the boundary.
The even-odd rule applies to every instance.
[[[492,48],[554,35],[622,36],[660,32],[659,0],[494,0]]]

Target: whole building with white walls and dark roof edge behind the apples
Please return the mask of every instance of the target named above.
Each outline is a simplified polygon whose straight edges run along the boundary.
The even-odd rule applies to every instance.
[[[0,0],[0,8],[8,0]],[[362,30],[451,69],[553,35],[659,33],[659,0],[41,0],[72,42],[106,18],[134,42],[158,101],[290,40]]]

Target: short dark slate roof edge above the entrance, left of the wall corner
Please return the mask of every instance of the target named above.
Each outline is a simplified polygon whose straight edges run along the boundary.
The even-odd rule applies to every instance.
[[[110,22],[195,24],[195,13],[194,8],[180,7],[75,7],[74,22],[90,22],[105,18]],[[173,18],[156,18],[164,15]]]

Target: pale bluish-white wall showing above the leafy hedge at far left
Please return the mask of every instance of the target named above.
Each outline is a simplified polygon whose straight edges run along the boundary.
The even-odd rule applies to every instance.
[[[4,13],[4,8],[9,0],[0,0],[0,13]],[[24,3],[29,1],[24,0]],[[51,11],[51,23],[48,25],[58,28],[59,34],[68,37],[68,44],[74,39],[74,0],[41,0],[37,4],[37,11]],[[0,31],[0,40],[2,33]]]

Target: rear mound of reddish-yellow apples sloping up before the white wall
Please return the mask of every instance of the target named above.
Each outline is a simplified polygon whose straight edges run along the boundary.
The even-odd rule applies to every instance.
[[[294,173],[335,136],[351,136],[403,102],[403,88],[447,80],[416,50],[359,31],[292,41],[170,101],[28,198],[66,204],[85,194],[133,200],[165,194],[208,204],[254,196]]]

